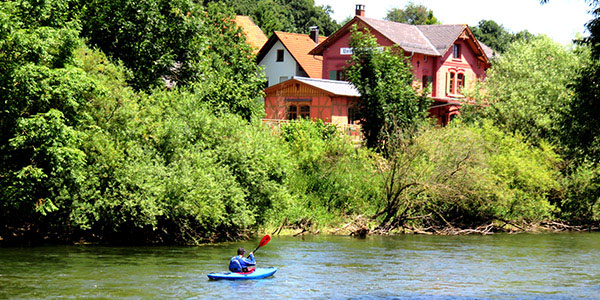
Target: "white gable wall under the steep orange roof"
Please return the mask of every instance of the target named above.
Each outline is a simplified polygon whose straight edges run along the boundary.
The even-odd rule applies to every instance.
[[[278,49],[283,50],[283,61],[277,61]],[[296,75],[306,76],[306,73],[298,66],[294,57],[285,49],[281,41],[277,41],[258,64],[264,67],[265,75],[269,80],[268,86],[278,84],[282,76],[287,77],[287,79],[291,79]],[[300,70],[300,74],[298,74],[298,70]]]

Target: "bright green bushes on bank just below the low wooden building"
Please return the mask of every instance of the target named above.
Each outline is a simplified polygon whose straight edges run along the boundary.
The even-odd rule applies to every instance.
[[[335,125],[320,120],[290,122],[281,136],[295,161],[290,189],[301,201],[289,219],[327,222],[332,215],[372,213],[380,191],[369,151],[355,149]]]

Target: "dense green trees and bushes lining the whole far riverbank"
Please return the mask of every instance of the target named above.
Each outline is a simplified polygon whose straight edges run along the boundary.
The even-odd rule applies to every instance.
[[[263,124],[235,1],[204,2],[0,3],[0,244],[598,229],[597,22],[572,49],[511,43],[469,92],[486,102],[443,128],[394,49],[356,51],[356,147],[320,121]],[[311,0],[274,2],[339,26]]]

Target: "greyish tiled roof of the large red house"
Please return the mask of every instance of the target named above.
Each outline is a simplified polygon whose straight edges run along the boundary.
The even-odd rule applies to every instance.
[[[329,39],[310,51],[310,53],[322,55],[327,46],[335,42],[340,35],[346,30],[349,30],[349,27],[356,24],[358,21],[381,33],[385,38],[400,46],[404,51],[431,56],[443,56],[465,30],[470,33],[470,29],[468,29],[469,27],[466,24],[410,25],[355,16],[352,21],[346,23],[342,28],[332,34]],[[474,46],[477,47],[477,45]],[[481,49],[483,49],[483,52],[488,59],[491,58],[490,54],[493,51],[488,53],[483,46],[481,46]]]

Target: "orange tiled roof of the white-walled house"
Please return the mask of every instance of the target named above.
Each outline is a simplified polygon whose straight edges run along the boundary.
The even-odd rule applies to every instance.
[[[326,39],[327,37],[319,36],[319,43]],[[321,78],[323,57],[308,54],[317,45],[308,34],[275,31],[258,52],[256,61],[260,63],[277,41],[281,41],[309,77]]]

